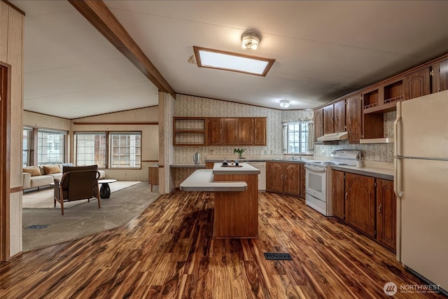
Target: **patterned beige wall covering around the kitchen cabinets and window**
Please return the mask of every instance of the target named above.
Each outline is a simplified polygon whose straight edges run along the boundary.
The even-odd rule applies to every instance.
[[[384,113],[384,137],[393,137],[393,122],[395,111]],[[234,102],[193,97],[189,95],[176,95],[174,116],[200,116],[200,117],[266,117],[267,139],[266,146],[244,146],[246,155],[282,155],[282,122],[305,120],[313,118],[313,111],[281,111]],[[205,155],[233,155],[237,146],[175,146],[174,162],[193,162],[193,154],[201,155],[204,162]],[[314,146],[314,155],[330,156],[335,149],[358,149],[365,153],[365,160],[393,161],[393,144],[349,144],[348,141],[339,141],[337,146]]]

